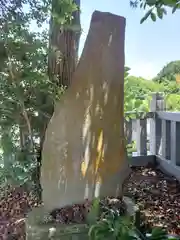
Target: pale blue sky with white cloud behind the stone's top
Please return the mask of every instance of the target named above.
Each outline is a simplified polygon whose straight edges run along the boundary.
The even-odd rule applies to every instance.
[[[153,22],[140,24],[141,9],[132,9],[129,0],[81,0],[80,52],[95,10],[111,12],[126,18],[125,61],[131,74],[151,79],[170,61],[180,60],[180,10]]]

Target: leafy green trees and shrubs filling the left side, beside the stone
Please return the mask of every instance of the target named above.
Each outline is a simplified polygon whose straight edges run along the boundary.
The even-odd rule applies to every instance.
[[[57,3],[56,16],[51,5]],[[75,1],[78,2],[78,1]],[[64,88],[48,77],[50,17],[68,25],[74,1],[1,0],[0,23],[0,180],[23,184],[36,180],[40,142],[54,101]],[[34,32],[32,21],[41,31]],[[42,30],[43,29],[43,30]]]

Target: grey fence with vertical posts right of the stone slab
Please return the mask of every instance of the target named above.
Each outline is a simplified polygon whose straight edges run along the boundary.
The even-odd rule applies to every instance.
[[[156,160],[164,171],[180,179],[180,112],[168,112],[165,105],[160,93],[152,94],[150,112],[135,113],[135,119],[125,121],[125,133],[128,144],[136,142],[133,163]]]

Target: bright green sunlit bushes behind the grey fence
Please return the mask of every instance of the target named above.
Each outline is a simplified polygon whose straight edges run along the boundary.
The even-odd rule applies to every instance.
[[[129,70],[129,68],[126,68],[125,71],[125,112],[133,112],[136,115],[138,112],[148,112],[153,92],[164,93],[167,110],[180,111],[180,84],[175,81],[169,81],[165,77],[159,81],[148,81],[143,78],[129,76]],[[128,115],[129,118],[134,118],[133,113]],[[128,117],[126,119],[128,120]]]

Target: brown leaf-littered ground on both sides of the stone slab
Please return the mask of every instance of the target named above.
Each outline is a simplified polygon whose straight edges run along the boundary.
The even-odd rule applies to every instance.
[[[169,234],[180,235],[180,183],[176,179],[168,177],[156,167],[133,167],[124,191],[144,213],[143,228],[149,231],[153,226],[164,226]],[[24,218],[37,205],[36,198],[22,187],[6,189],[0,202],[0,240],[24,240]],[[77,211],[84,211],[85,207],[76,205],[74,209],[67,210],[70,216],[74,216]],[[66,211],[61,212],[69,221]],[[78,216],[82,215],[80,212],[76,215],[77,222],[81,221]],[[12,238],[15,235],[17,238]]]

